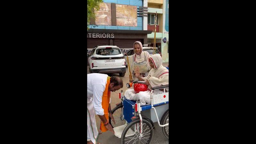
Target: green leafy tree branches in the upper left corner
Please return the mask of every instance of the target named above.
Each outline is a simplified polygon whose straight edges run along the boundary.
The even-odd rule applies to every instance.
[[[103,0],[87,0],[87,30],[90,29],[90,19],[95,19],[94,11],[100,9],[100,4],[103,3]]]

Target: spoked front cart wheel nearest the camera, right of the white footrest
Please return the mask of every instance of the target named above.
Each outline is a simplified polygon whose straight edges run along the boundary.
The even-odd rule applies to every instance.
[[[140,119],[134,120],[131,123],[127,124],[127,126],[124,128],[124,131],[121,136],[121,144],[127,144],[128,143],[140,143],[140,144],[149,144],[152,141],[154,131],[152,124],[148,122],[147,120],[142,120],[142,138],[139,139],[139,135],[137,132],[134,132],[134,128],[136,127],[136,124],[139,123],[139,129],[140,129]],[[126,133],[128,130],[132,130],[134,135],[132,136],[126,136]]]

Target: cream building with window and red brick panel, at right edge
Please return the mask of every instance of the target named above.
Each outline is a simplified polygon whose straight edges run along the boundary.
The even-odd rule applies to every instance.
[[[163,62],[169,62],[169,0],[148,0],[147,25],[148,30],[152,30],[148,34],[148,46],[154,45],[154,32],[156,15],[156,47],[162,54]]]

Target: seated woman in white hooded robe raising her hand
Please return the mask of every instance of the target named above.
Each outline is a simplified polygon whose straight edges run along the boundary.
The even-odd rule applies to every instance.
[[[135,71],[135,76],[140,81],[145,81],[148,85],[148,91],[135,93],[133,89],[128,89],[125,91],[124,95],[128,100],[139,100],[140,105],[150,104],[150,91],[152,87],[168,85],[169,84],[169,70],[162,66],[162,58],[158,54],[154,54],[149,57],[149,65],[152,68],[147,77],[141,77],[139,69]],[[169,89],[165,89],[168,92]],[[153,94],[164,93],[161,90],[154,90]]]

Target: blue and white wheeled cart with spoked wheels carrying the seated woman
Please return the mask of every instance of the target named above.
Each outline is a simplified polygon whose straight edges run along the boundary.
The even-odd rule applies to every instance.
[[[133,81],[135,83],[145,84],[143,81]],[[116,124],[111,118],[109,123],[116,137],[121,138],[121,144],[150,143],[155,122],[162,127],[164,136],[169,139],[169,92],[165,88],[169,88],[169,85],[153,87],[150,92],[151,104],[144,106],[140,106],[140,100],[127,100],[123,90],[119,93],[121,103],[112,110]],[[164,89],[164,93],[154,95],[153,90],[156,89]]]

